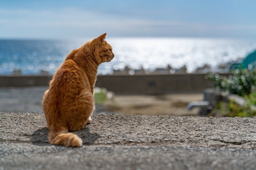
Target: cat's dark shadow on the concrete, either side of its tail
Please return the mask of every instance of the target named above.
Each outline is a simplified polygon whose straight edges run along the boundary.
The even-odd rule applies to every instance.
[[[30,135],[31,143],[38,146],[51,145],[48,142],[48,133],[49,130],[46,127],[34,131],[34,133]],[[93,145],[98,138],[101,138],[101,136],[97,133],[90,133],[90,127],[85,127],[82,130],[74,131],[72,133],[82,138],[83,144],[85,145]]]

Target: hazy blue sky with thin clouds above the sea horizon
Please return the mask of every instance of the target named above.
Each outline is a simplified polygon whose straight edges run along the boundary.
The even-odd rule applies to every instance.
[[[1,0],[0,38],[256,38],[255,0]]]

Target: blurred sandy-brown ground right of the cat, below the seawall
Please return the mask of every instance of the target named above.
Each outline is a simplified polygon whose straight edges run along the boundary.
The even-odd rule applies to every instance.
[[[109,111],[133,115],[198,115],[199,108],[187,110],[189,102],[202,101],[203,94],[117,95],[105,102]]]

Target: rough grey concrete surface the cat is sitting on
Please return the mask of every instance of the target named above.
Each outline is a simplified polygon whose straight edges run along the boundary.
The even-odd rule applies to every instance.
[[[47,133],[42,113],[0,113],[0,170],[256,169],[256,118],[95,114],[80,148]]]

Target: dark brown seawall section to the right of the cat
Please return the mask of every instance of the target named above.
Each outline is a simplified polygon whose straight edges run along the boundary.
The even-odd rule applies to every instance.
[[[98,87],[116,94],[201,93],[212,87],[205,74],[98,76]]]

